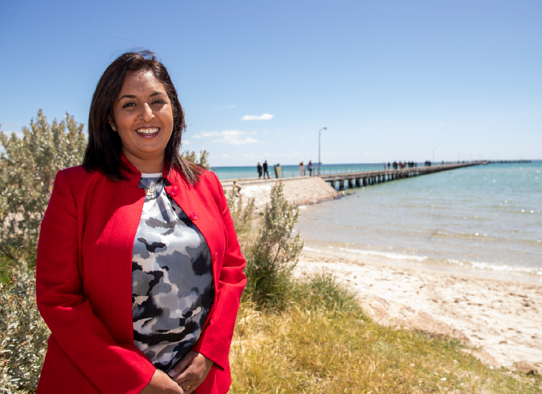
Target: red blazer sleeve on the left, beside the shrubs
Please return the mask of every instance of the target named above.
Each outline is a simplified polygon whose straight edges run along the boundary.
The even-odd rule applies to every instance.
[[[102,392],[139,393],[154,366],[133,344],[113,339],[83,294],[82,215],[66,174],[57,172],[38,242],[37,306],[62,350]]]

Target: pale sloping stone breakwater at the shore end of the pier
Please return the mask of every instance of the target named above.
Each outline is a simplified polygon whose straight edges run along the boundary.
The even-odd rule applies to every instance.
[[[255,210],[262,213],[271,201],[271,188],[282,181],[284,196],[287,201],[296,206],[316,204],[340,196],[332,186],[320,177],[295,177],[283,179],[225,179],[222,180],[224,192],[228,194],[231,188],[236,189],[237,197],[247,203],[254,198]]]

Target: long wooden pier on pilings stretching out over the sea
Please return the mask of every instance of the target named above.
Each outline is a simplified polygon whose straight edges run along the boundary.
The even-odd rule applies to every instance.
[[[416,177],[418,175],[430,174],[433,172],[454,170],[460,167],[470,167],[473,165],[487,164],[487,162],[471,162],[471,163],[455,163],[455,164],[438,164],[423,167],[405,167],[397,170],[376,170],[376,171],[361,171],[361,172],[345,172],[339,174],[320,175],[320,178],[326,182],[330,182],[333,188],[335,183],[339,182],[339,190],[345,189],[345,183],[348,183],[348,188],[359,188],[360,186],[374,185],[390,180]],[[318,171],[318,167],[315,169]]]

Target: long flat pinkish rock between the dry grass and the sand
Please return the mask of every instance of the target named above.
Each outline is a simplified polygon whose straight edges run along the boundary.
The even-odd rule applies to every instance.
[[[443,321],[434,318],[429,313],[416,311],[398,302],[366,295],[361,300],[363,311],[381,326],[395,326],[427,331],[456,338],[462,343],[469,343],[467,335]]]

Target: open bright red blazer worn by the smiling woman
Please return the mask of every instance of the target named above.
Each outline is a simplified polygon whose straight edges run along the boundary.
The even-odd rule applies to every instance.
[[[37,306],[51,330],[38,394],[135,394],[155,371],[133,345],[132,249],[145,193],[123,159],[134,173],[118,183],[81,166],[56,174],[37,249]],[[205,171],[195,186],[174,170],[163,176],[166,192],[197,215],[212,256],[215,298],[192,350],[215,365],[196,393],[225,393],[245,261],[216,175]]]

